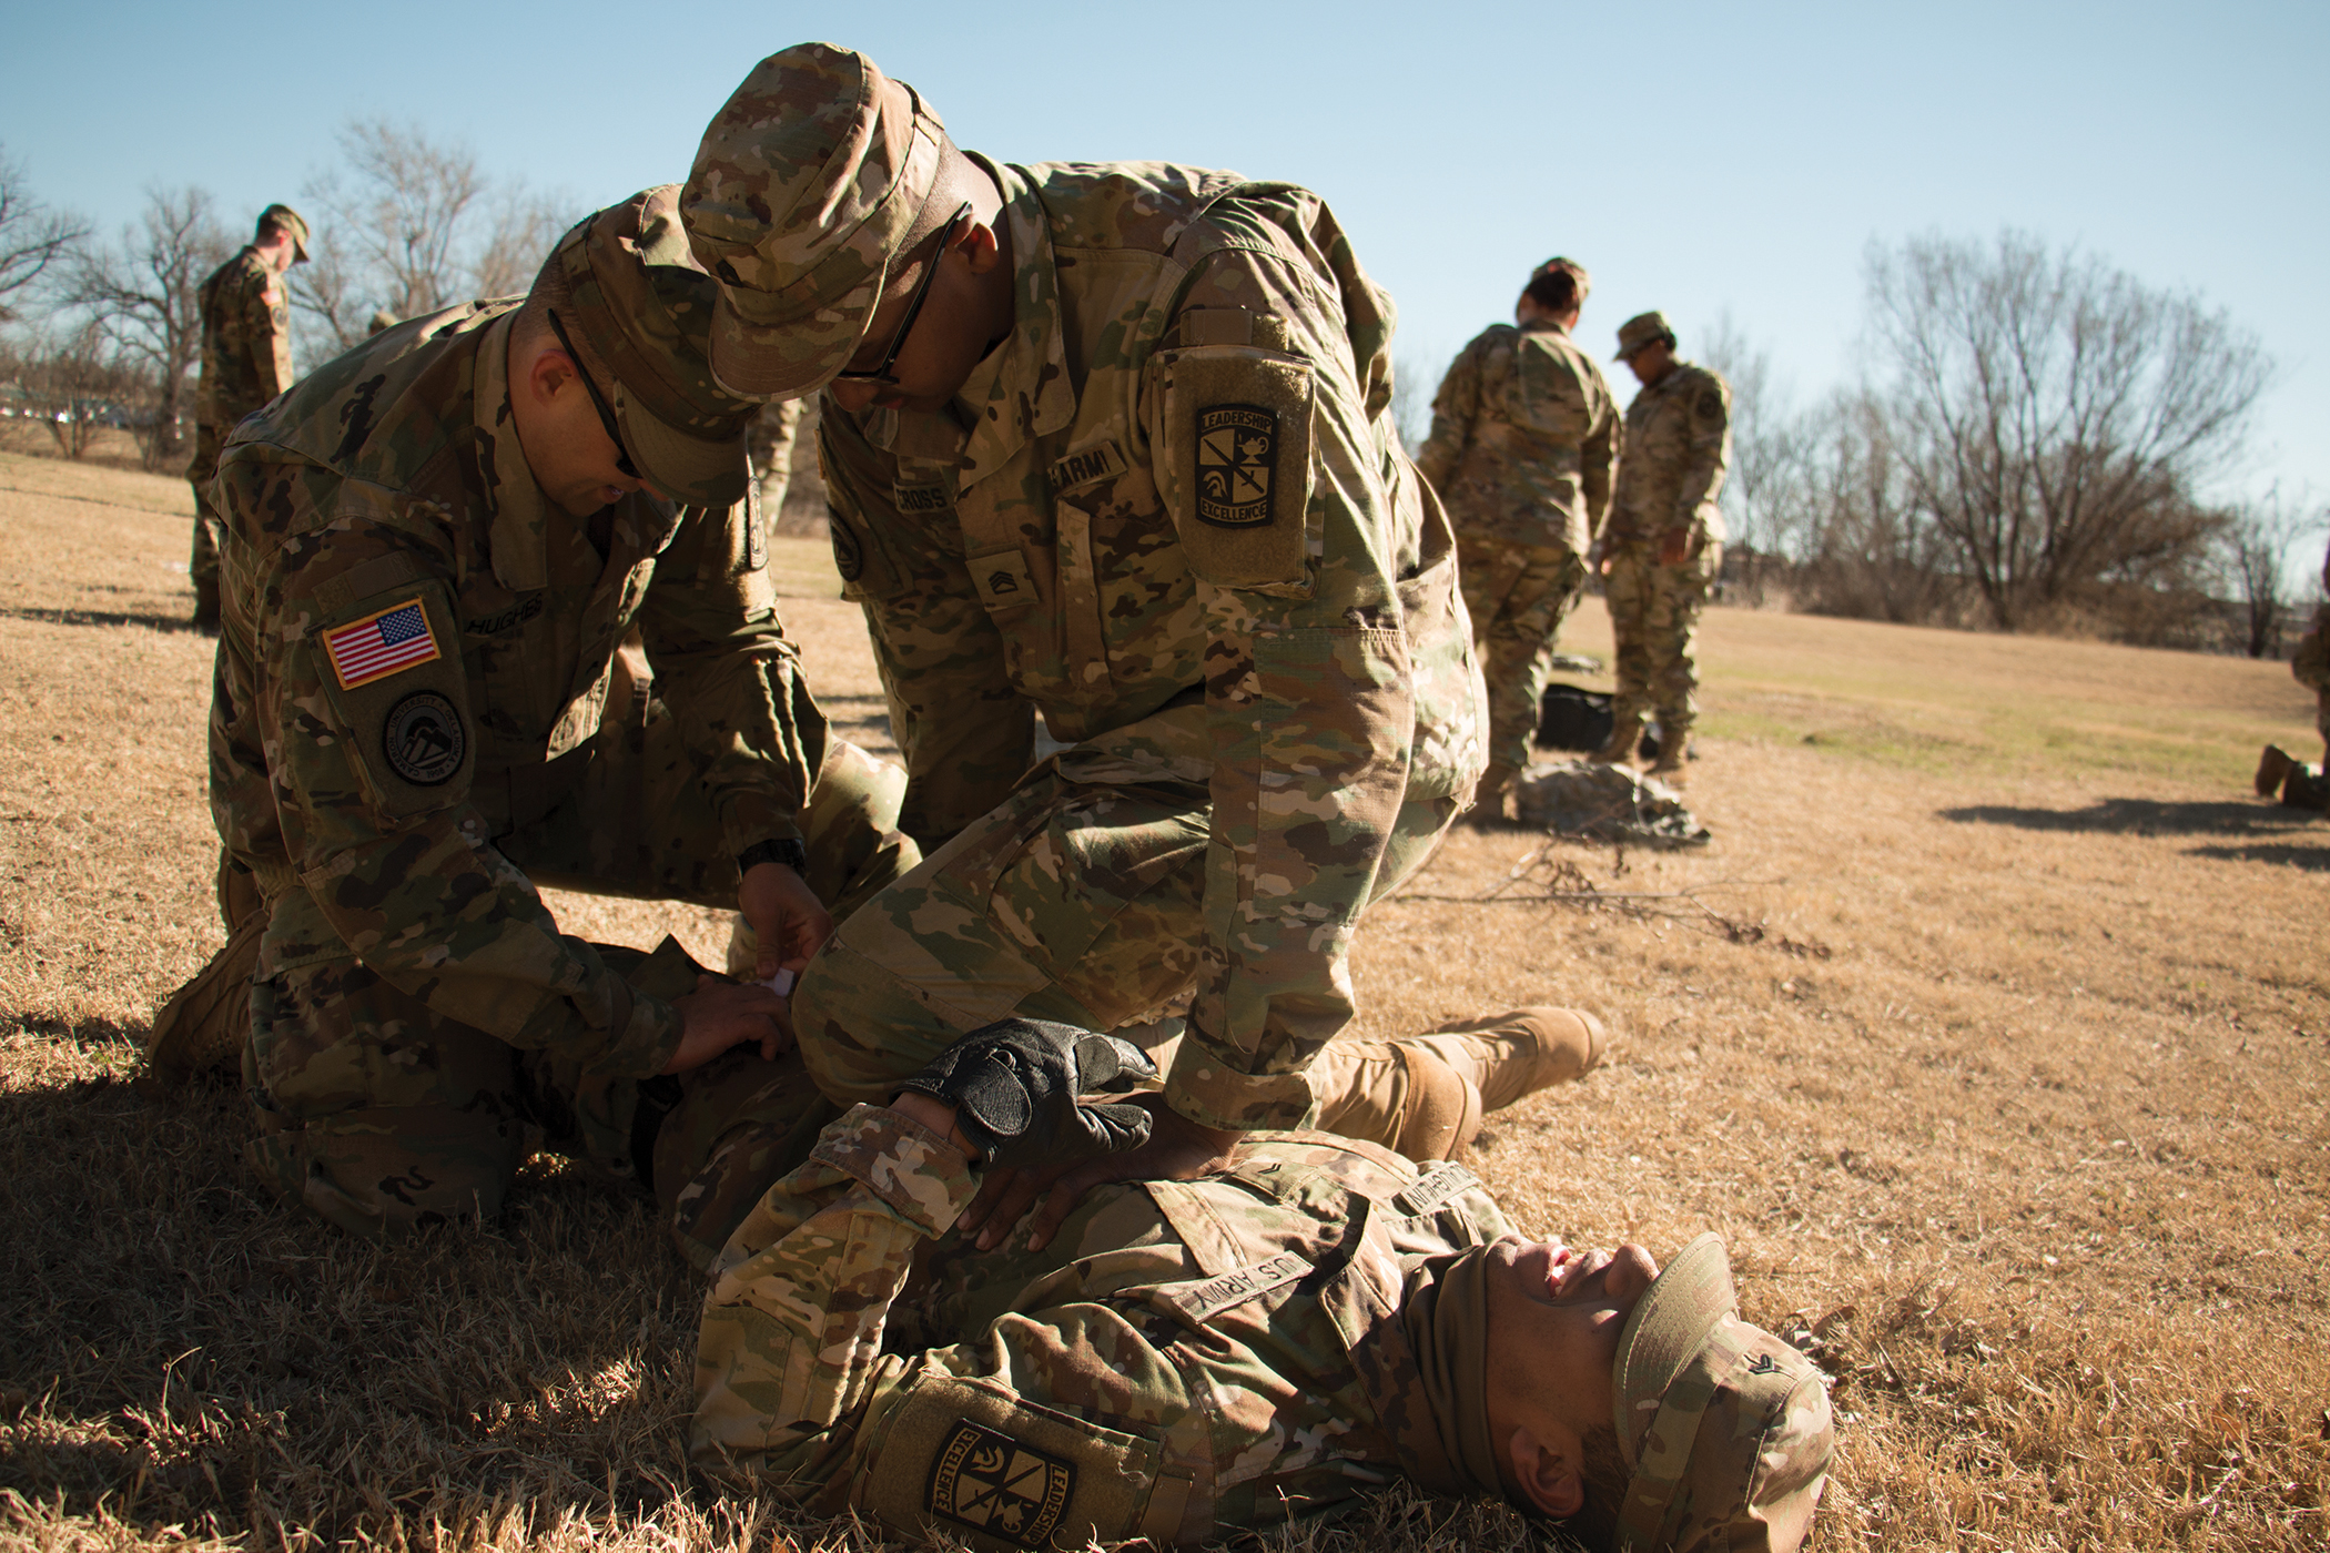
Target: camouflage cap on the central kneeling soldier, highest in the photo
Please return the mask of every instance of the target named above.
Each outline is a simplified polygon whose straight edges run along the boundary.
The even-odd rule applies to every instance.
[[[890,265],[937,186],[946,126],[864,54],[771,54],[713,114],[680,214],[720,279],[713,373],[799,398],[864,338]]]

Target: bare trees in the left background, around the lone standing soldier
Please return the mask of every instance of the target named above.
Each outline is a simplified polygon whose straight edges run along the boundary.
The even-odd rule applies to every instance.
[[[363,340],[375,312],[408,319],[524,291],[580,217],[473,151],[359,119],[338,161],[291,200],[312,261],[291,270],[301,373]],[[186,463],[203,361],[200,286],[249,242],[259,210],[221,212],[203,189],[149,186],[116,240],[42,203],[0,154],[0,414],[47,426],[79,459],[105,428],[135,435],[147,468]]]

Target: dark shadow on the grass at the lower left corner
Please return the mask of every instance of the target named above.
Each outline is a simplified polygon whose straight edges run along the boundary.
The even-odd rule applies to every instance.
[[[238,1085],[75,1045],[0,1041],[0,1490],[266,1548],[683,1490],[701,1295],[645,1199],[536,1164],[501,1225],[370,1246],[245,1169]]]

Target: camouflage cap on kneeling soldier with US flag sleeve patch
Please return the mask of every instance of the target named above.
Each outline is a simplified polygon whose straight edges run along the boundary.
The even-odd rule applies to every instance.
[[[645,482],[692,508],[743,501],[743,433],[757,405],[713,382],[706,340],[720,291],[687,251],[680,186],[585,217],[548,268],[573,296],[562,321],[615,377],[608,403]]]

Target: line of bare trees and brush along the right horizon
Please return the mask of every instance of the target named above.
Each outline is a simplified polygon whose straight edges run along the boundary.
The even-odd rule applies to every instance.
[[[1789,405],[1729,321],[1724,491],[1745,601],[2269,657],[2318,505],[2211,498],[2272,361],[2197,296],[2036,237],[1911,237],[1864,263],[1862,377]]]

